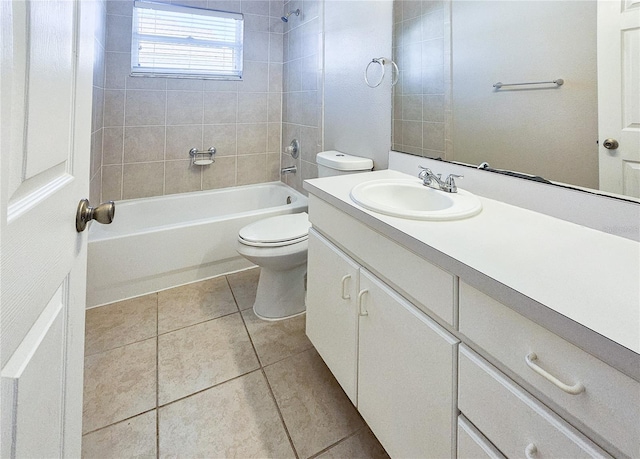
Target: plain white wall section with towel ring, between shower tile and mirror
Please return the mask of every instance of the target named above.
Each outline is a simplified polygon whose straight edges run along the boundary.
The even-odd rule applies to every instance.
[[[374,57],[391,57],[392,6],[391,0],[325,2],[324,149],[371,158],[376,169],[388,164],[391,83],[387,77],[367,87],[364,69]],[[389,66],[386,71],[389,76]]]

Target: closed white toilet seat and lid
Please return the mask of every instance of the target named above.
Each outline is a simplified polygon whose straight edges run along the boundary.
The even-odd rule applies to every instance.
[[[245,226],[238,241],[252,247],[283,247],[306,241],[310,227],[306,212],[278,215]]]

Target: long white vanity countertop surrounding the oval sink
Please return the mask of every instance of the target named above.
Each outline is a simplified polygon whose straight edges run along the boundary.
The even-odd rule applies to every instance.
[[[480,214],[457,221],[390,217],[349,197],[355,185],[386,178],[412,177],[382,170],[312,179],[305,189],[359,220],[373,217],[364,223],[418,254],[442,252],[640,354],[639,243],[483,197]]]

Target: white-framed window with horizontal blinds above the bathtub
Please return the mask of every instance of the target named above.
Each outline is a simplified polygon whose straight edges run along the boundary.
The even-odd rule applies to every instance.
[[[211,18],[222,19],[227,23],[227,30],[231,31],[231,33],[226,34],[227,36],[223,39],[203,37],[202,35],[198,38],[177,36],[177,34],[174,33],[172,35],[168,31],[166,33],[163,31],[141,33],[140,22],[144,21],[141,17],[150,12],[164,16],[165,20],[167,19],[167,14],[171,20],[171,13],[176,13],[178,28],[180,28],[180,25],[184,25],[185,15],[192,16],[194,21],[206,22],[210,21]],[[134,1],[131,32],[131,75],[241,80],[243,32],[244,17],[241,13],[142,0]],[[140,50],[145,47],[151,51],[146,54],[140,53]],[[185,49],[183,54],[179,51],[181,47]],[[157,54],[154,54],[156,51],[158,51]],[[167,55],[174,52],[176,60],[168,60]],[[205,55],[204,58],[202,57],[203,54]],[[218,67],[211,65],[217,58],[219,58],[221,65]],[[183,60],[182,63],[179,62],[181,59]]]

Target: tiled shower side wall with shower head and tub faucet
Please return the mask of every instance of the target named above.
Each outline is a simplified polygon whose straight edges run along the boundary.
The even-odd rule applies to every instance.
[[[322,150],[322,4],[320,0],[293,0],[284,10],[300,9],[284,28],[284,88],[282,151],[291,140],[300,142],[300,156],[282,153],[282,166],[295,165],[298,172],[283,181],[302,190],[302,181],[318,176],[316,153]]]

